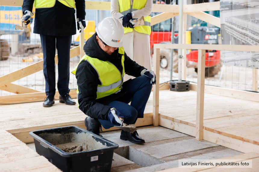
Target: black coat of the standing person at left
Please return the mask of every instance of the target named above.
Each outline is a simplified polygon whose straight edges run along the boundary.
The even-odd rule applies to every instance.
[[[23,0],[23,14],[32,11],[34,0]],[[76,18],[85,19],[85,0],[75,0]],[[41,35],[70,36],[76,34],[75,9],[55,1],[54,7],[35,10],[33,33]]]

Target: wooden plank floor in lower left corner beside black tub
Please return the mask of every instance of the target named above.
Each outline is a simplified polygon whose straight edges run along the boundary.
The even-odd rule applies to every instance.
[[[38,171],[45,168],[48,171],[60,171],[48,159],[40,156],[25,143],[11,133],[0,130],[0,171]],[[5,138],[5,139],[3,139]]]

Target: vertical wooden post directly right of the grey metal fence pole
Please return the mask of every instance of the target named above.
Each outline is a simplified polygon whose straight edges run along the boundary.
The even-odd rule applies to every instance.
[[[183,13],[183,44],[186,44],[186,13]],[[183,60],[182,60],[182,80],[186,80],[186,49],[183,51]]]

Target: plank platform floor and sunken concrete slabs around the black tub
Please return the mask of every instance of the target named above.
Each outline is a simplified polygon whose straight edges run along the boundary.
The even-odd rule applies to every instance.
[[[226,157],[253,159],[253,168],[220,168],[220,171],[258,170],[257,102],[205,93],[204,140],[198,141],[195,140],[197,92],[161,90],[159,94],[160,126],[152,126],[152,92],[144,118],[136,122],[139,126],[138,133],[145,139],[145,144],[137,145],[120,140],[120,130],[114,130],[117,128],[110,129],[114,131],[103,129],[103,136],[120,146],[114,151],[112,171],[160,171],[177,167],[178,159]],[[86,115],[76,105],[68,106],[56,101],[50,108],[42,107],[42,102],[1,105],[0,108],[0,168],[3,171],[58,171],[47,159],[28,147],[33,147],[33,138],[29,136],[29,132],[68,125],[86,129]],[[30,144],[27,146],[22,142]],[[183,169],[169,171],[178,170]],[[207,172],[204,168],[189,169],[199,170]],[[213,168],[208,171],[219,170]]]

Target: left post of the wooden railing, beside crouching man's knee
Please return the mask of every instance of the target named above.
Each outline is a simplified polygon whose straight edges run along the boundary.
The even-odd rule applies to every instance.
[[[156,85],[153,85],[153,125],[159,125],[159,67],[160,49],[154,49],[153,56],[154,73],[156,74]]]

